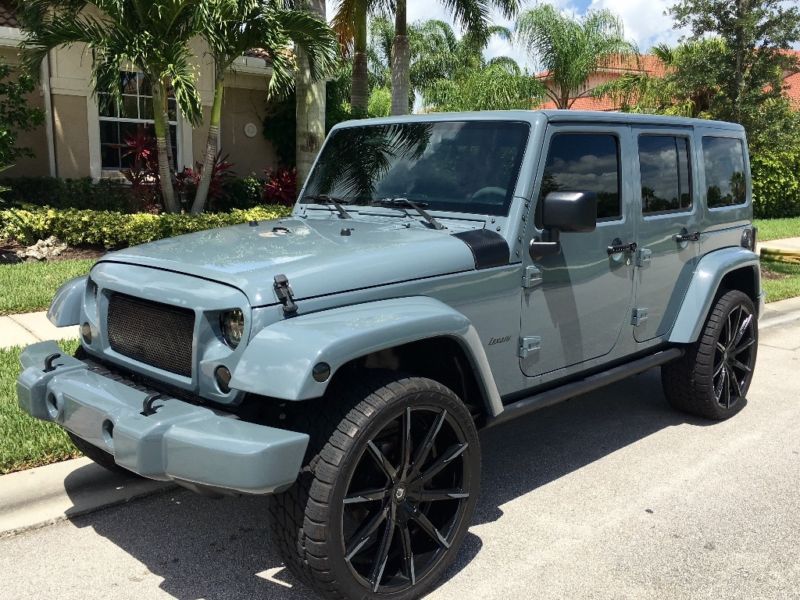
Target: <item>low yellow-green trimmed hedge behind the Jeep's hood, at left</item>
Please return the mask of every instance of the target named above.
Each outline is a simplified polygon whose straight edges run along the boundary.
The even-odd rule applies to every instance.
[[[275,205],[201,215],[11,208],[0,210],[0,239],[33,244],[55,235],[70,246],[124,248],[192,231],[278,219],[290,212],[291,207]]]

